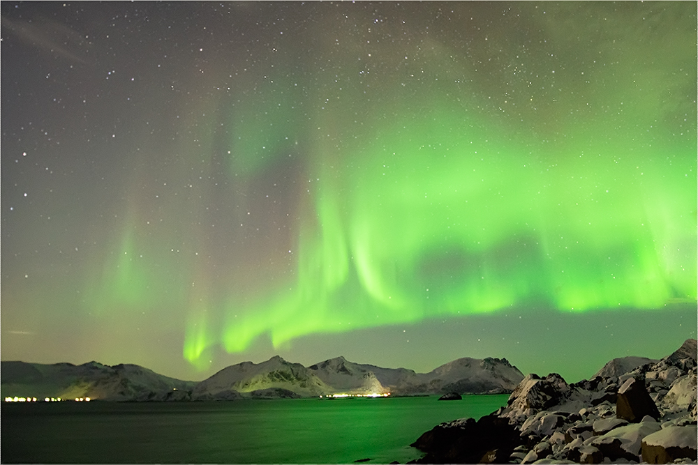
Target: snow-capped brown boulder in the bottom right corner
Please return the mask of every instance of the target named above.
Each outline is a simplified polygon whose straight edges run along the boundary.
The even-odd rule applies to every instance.
[[[696,425],[669,426],[642,440],[642,460],[648,464],[668,464],[676,459],[698,457]]]

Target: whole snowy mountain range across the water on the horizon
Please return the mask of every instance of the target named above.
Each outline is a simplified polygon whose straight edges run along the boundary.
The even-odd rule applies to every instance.
[[[233,400],[333,394],[431,395],[512,392],[523,374],[505,358],[459,358],[429,373],[383,368],[337,357],[309,367],[274,356],[221,369],[204,381],[181,381],[138,365],[0,363],[7,397],[90,397],[109,401]]]

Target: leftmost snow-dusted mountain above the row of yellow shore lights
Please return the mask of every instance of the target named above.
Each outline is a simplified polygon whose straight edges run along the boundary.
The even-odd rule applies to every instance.
[[[90,397],[102,400],[186,399],[195,381],[181,381],[138,365],[97,362],[0,363],[3,397]]]

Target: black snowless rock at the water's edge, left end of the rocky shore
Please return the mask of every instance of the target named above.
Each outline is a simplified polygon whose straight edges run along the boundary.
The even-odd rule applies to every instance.
[[[506,418],[484,416],[480,420],[442,423],[419,436],[413,447],[426,452],[419,464],[477,464],[505,462],[521,445],[516,428]]]

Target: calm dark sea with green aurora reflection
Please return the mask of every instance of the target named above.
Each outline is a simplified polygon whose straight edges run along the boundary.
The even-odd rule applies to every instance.
[[[507,395],[1,406],[2,463],[350,464],[407,462],[423,432],[480,418]]]

